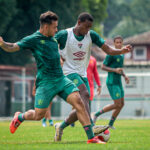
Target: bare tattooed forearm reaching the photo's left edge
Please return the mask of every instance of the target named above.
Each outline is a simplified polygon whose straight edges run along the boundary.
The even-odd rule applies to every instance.
[[[0,47],[6,52],[16,52],[20,49],[16,43],[5,42],[2,37],[0,37]]]

